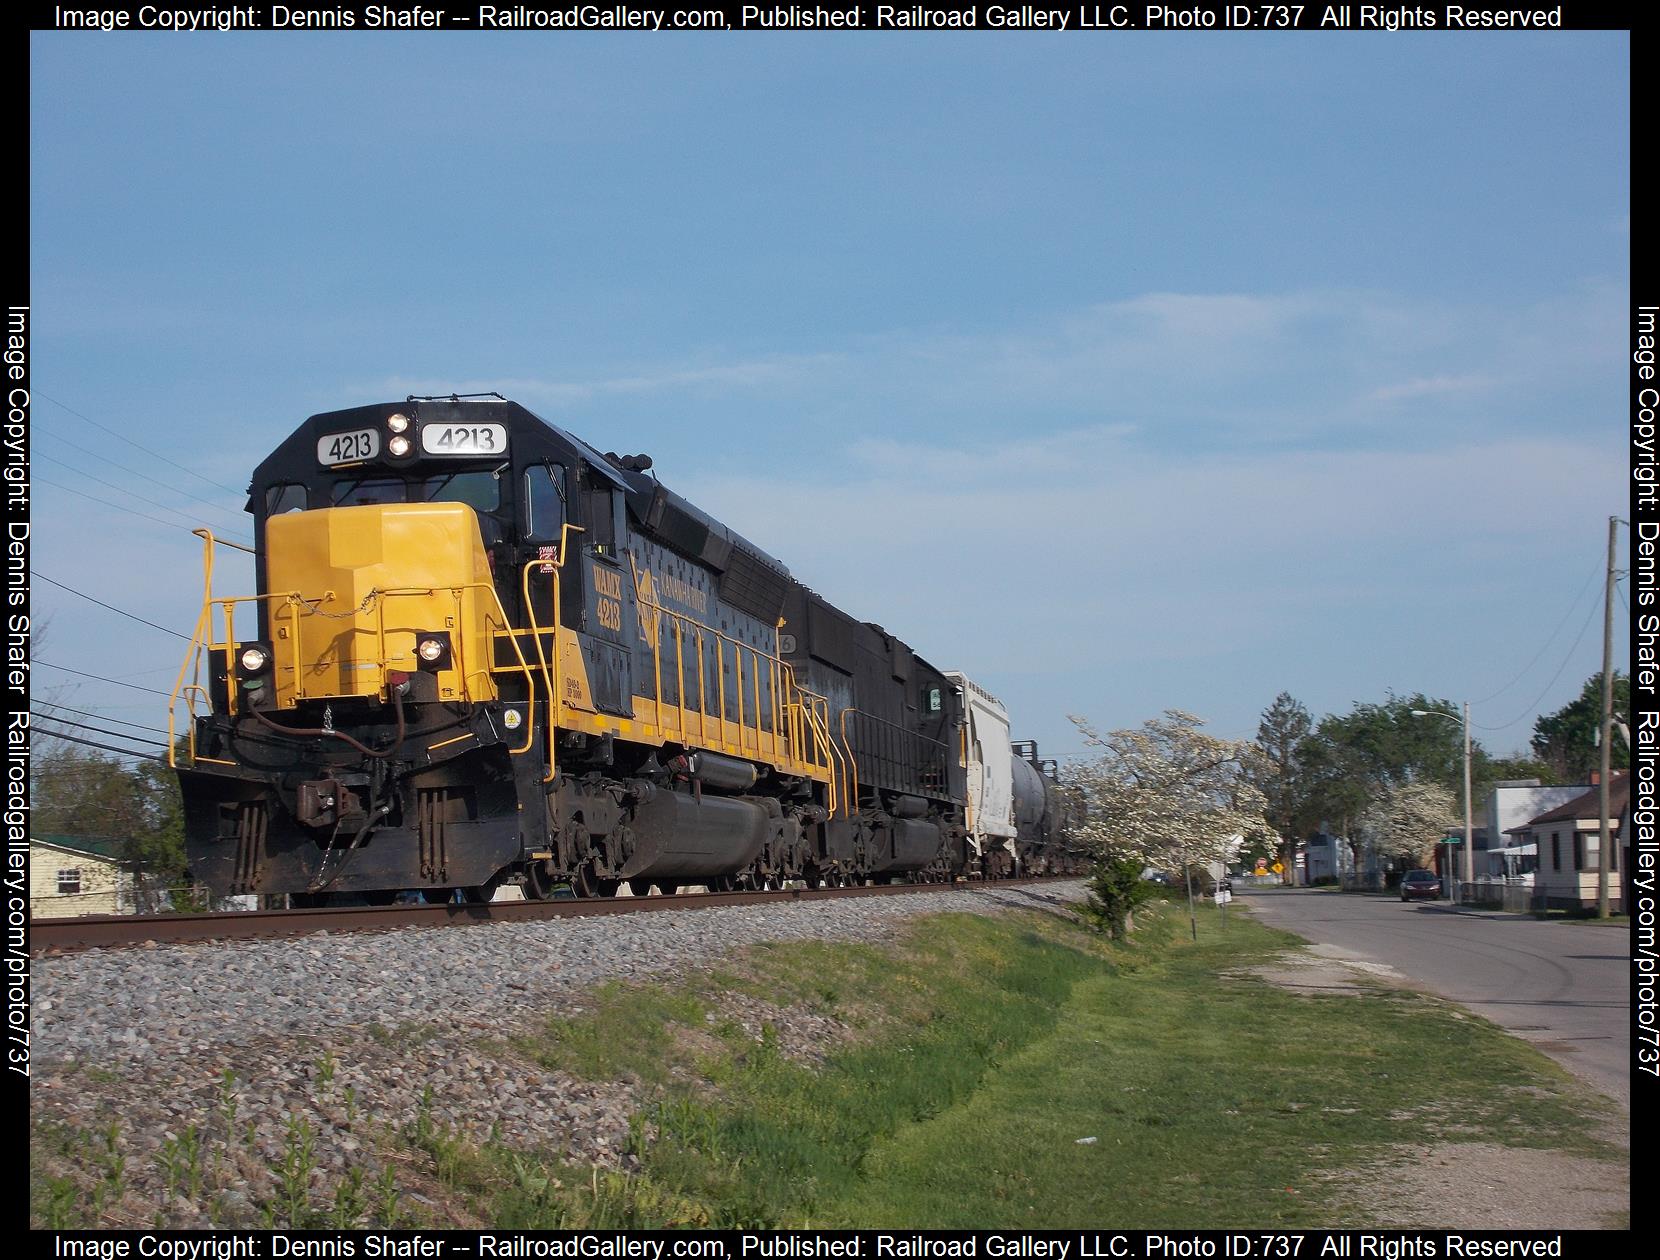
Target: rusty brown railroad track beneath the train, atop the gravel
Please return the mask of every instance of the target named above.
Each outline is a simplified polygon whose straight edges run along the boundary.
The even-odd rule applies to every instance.
[[[779,901],[828,901],[838,896],[903,896],[974,888],[1018,888],[1074,878],[1044,875],[991,883],[890,883],[863,888],[785,888],[745,893],[672,893],[667,896],[561,898],[551,901],[490,901],[486,905],[329,906],[324,910],[231,910],[208,915],[81,915],[30,923],[32,955],[76,953],[138,945],[232,941],[262,936],[305,936],[319,931],[388,931],[393,928],[460,928],[478,923],[521,923],[540,918],[647,915],[659,910],[710,910]]]

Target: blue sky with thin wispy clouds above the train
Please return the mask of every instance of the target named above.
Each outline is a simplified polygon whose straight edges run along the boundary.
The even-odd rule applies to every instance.
[[[161,505],[234,528],[307,415],[495,388],[651,453],[1046,752],[1069,712],[1250,735],[1280,691],[1389,689],[1476,702],[1509,752],[1600,669],[1628,61],[1623,33],[37,33],[33,564],[189,629]],[[178,669],[35,609],[46,661]],[[164,724],[37,674],[70,682]]]

